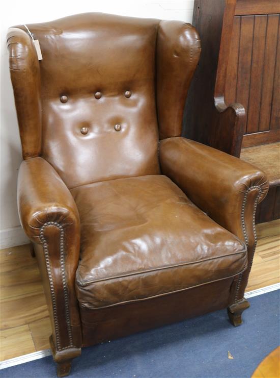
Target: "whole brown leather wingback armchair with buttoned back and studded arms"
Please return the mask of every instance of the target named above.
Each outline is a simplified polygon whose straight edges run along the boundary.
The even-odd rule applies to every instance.
[[[268,188],[254,166],[180,137],[195,29],[94,13],[28,28],[41,61],[24,26],[8,34],[18,210],[58,375],[81,346],[223,308],[239,325]]]

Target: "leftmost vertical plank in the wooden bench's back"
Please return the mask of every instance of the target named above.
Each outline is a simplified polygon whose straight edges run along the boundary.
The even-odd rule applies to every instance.
[[[227,78],[225,85],[225,101],[226,104],[233,104],[236,102],[236,85],[237,85],[237,69],[239,57],[239,42],[240,42],[240,22],[241,17],[234,17],[233,31],[234,36],[231,41],[230,55]]]

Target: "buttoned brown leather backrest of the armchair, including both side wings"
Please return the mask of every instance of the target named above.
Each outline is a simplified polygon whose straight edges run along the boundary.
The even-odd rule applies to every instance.
[[[178,22],[85,13],[29,24],[41,61],[26,28],[12,28],[23,157],[45,158],[69,188],[159,173],[157,117],[161,137],[180,135],[193,72],[194,29]]]

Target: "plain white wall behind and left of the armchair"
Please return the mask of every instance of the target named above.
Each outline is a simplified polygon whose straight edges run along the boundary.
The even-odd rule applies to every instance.
[[[1,223],[2,248],[23,244],[27,238],[19,226],[16,182],[21,148],[8,69],[7,29],[16,24],[45,22],[83,12],[105,12],[134,17],[192,20],[194,0],[13,0],[2,3],[1,12]],[[6,4],[5,6],[3,4]]]

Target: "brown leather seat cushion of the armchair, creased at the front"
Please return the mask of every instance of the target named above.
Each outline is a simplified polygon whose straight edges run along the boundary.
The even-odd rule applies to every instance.
[[[71,190],[81,221],[76,292],[103,308],[185,290],[247,267],[246,247],[164,175]]]

